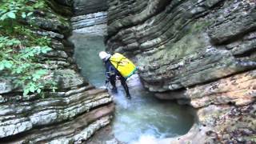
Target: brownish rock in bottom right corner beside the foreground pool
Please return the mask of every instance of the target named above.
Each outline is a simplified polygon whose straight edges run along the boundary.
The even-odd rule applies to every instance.
[[[178,138],[166,138],[162,143],[255,143],[255,103],[248,106],[206,106],[198,110],[199,125]],[[161,143],[159,142],[159,143]]]

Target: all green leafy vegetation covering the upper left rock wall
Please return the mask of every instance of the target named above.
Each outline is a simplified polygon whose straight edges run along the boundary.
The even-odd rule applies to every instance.
[[[12,78],[16,88],[22,87],[23,96],[41,94],[44,89],[55,90],[50,70],[40,63],[40,55],[48,53],[50,38],[40,37],[26,23],[34,19],[34,10],[43,9],[45,2],[3,0],[0,6],[0,75]]]

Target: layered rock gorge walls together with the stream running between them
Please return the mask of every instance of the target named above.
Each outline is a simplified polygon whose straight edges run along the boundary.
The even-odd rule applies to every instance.
[[[48,38],[51,50],[34,64],[49,70],[42,80],[52,79],[56,90],[24,94],[15,85],[18,76],[8,65],[1,68],[6,59],[0,54],[0,143],[256,142],[255,0],[39,0],[26,6],[34,8],[20,12],[22,28],[0,6],[0,50],[2,37]],[[4,14],[22,32],[2,29]],[[47,43],[36,38],[33,45]],[[24,49],[14,43],[6,46]],[[131,100],[120,84],[118,94],[105,89],[102,50],[138,66],[127,81]]]

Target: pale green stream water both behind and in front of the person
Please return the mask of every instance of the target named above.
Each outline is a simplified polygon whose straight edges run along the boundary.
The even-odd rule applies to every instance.
[[[105,85],[105,70],[98,52],[104,50],[102,37],[86,37],[74,34],[74,58],[82,68],[82,75],[94,86]],[[190,106],[180,106],[154,98],[144,90],[138,77],[134,75],[128,82],[131,100],[126,99],[125,91],[118,83],[118,93],[114,94],[116,110],[112,123],[112,133],[118,141],[133,143],[142,136],[171,138],[186,134],[194,124]]]

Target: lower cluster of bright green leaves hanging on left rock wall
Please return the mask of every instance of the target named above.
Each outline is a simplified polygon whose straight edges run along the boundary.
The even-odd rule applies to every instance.
[[[42,38],[45,39],[45,38]],[[41,93],[44,88],[55,88],[55,83],[48,76],[49,70],[38,63],[38,56],[51,50],[49,46],[24,47],[15,38],[0,37],[0,71],[3,76],[15,78],[15,87],[23,87],[23,95]]]

